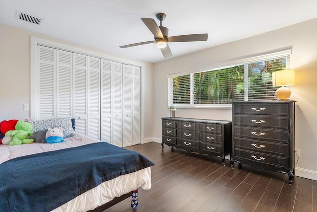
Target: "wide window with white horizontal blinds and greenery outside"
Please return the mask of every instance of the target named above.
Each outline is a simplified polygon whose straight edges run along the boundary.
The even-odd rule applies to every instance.
[[[272,72],[288,67],[289,55],[168,78],[169,106],[199,107],[232,101],[276,99]]]

